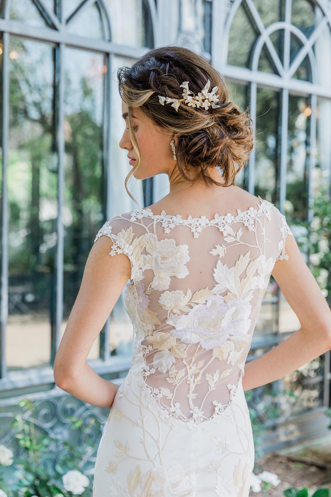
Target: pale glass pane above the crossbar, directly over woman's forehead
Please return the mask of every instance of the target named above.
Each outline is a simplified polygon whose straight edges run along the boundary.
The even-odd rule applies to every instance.
[[[114,43],[132,47],[154,46],[148,0],[104,0],[103,3],[109,12]],[[169,5],[169,8],[172,8],[172,5]],[[174,9],[176,18],[178,18],[177,9]]]

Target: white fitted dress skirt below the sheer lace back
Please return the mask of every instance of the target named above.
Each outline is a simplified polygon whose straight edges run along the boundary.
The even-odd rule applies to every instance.
[[[103,428],[93,497],[248,497],[255,450],[242,377],[217,421],[188,427],[162,419],[132,366]]]

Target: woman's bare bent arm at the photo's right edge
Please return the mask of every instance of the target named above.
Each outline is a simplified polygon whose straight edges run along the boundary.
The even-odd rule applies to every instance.
[[[272,275],[301,328],[245,365],[244,390],[282,378],[331,349],[331,310],[294,236],[286,237],[286,253],[288,259],[277,260]]]

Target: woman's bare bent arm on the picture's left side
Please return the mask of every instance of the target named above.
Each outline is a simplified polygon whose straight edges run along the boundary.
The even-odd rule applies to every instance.
[[[54,361],[56,384],[94,406],[110,408],[118,385],[86,362],[89,351],[131,276],[124,253],[109,255],[113,242],[100,237],[87,258],[82,282]]]

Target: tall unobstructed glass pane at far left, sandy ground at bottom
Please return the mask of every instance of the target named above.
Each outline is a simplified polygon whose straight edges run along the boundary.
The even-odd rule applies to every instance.
[[[54,326],[58,158],[54,141],[54,48],[10,37],[9,369],[50,363]]]

